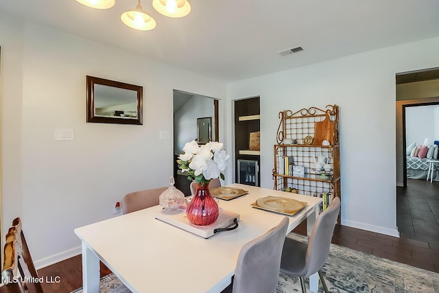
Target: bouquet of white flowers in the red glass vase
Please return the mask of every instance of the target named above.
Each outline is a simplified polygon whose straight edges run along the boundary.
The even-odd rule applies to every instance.
[[[196,141],[186,143],[183,154],[178,156],[178,167],[187,173],[189,180],[194,180],[202,186],[211,179],[222,178],[226,169],[226,161],[230,156],[226,154],[223,143],[210,142],[198,145]]]

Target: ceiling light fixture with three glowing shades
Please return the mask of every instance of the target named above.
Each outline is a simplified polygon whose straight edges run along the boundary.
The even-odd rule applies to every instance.
[[[108,9],[115,5],[115,0],[76,0],[91,8]],[[134,30],[153,30],[156,21],[143,10],[140,0],[136,8],[123,12],[121,21]],[[168,17],[183,17],[191,12],[191,4],[188,0],[153,0],[152,6],[158,13]]]

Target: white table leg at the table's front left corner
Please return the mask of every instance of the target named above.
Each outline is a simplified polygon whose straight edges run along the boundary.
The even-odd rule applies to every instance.
[[[82,242],[82,286],[84,293],[99,292],[99,258]]]

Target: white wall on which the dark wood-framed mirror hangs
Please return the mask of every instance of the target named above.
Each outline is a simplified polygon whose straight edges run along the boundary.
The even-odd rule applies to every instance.
[[[8,16],[0,33],[2,224],[21,216],[44,266],[80,253],[73,229],[111,218],[123,195],[168,185],[173,90],[224,99],[226,84]],[[143,126],[86,123],[86,75],[143,86]],[[54,141],[56,128],[75,140]]]

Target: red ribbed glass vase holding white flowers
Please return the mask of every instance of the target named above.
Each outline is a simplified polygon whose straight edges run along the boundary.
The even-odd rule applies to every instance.
[[[209,192],[209,183],[201,186],[195,183],[197,191],[193,196],[186,215],[189,222],[198,226],[206,226],[215,222],[219,215],[218,204]]]

